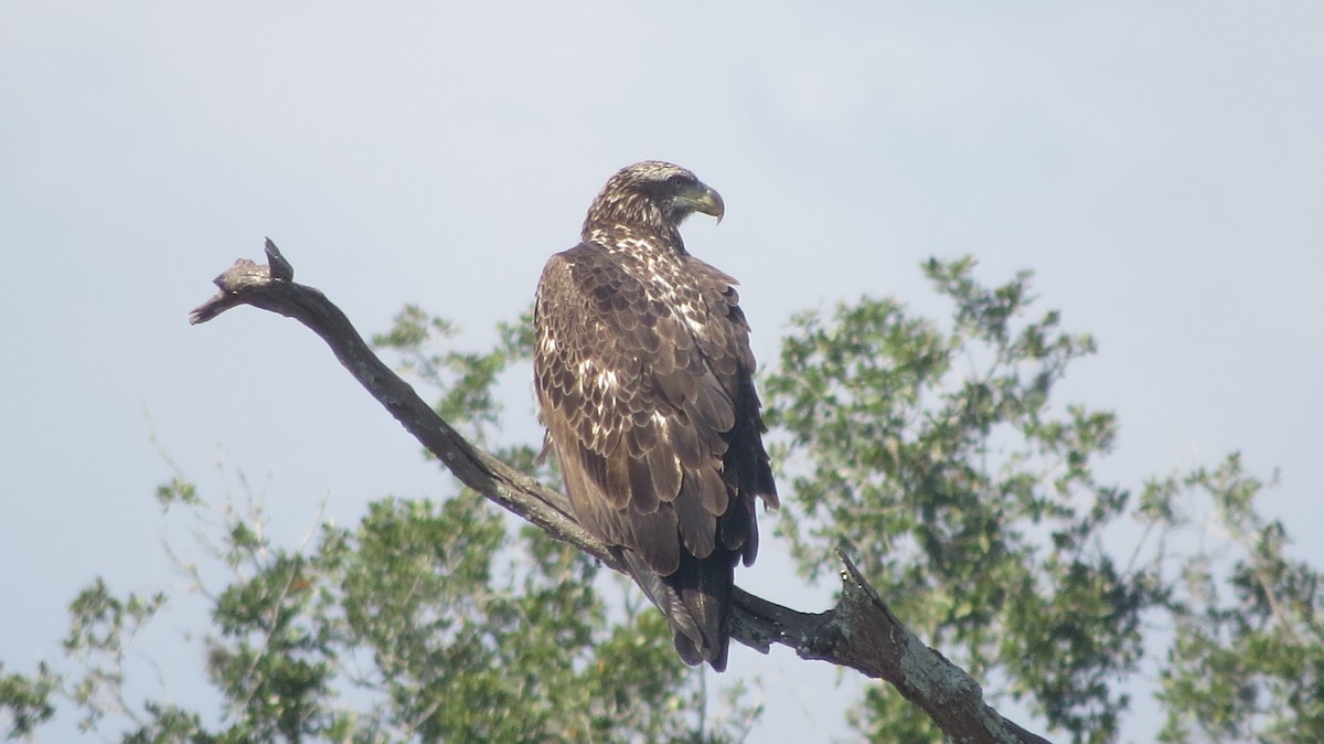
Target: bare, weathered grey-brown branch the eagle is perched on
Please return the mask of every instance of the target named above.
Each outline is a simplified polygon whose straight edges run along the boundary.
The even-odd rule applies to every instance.
[[[320,291],[294,282],[294,267],[270,240],[266,241],[266,257],[265,266],[240,259],[217,277],[214,283],[220,294],[193,310],[189,323],[205,323],[240,304],[303,323],[322,336],[350,373],[461,482],[551,536],[624,572],[617,549],[579,526],[563,494],[461,437],[377,359],[340,308]],[[825,661],[884,679],[923,708],[951,741],[1047,744],[1046,739],[990,708],[980,686],[902,625],[855,564],[845,553],[839,557],[842,594],[835,608],[804,613],[736,588],[732,638],[763,653],[781,643],[804,659]]]

